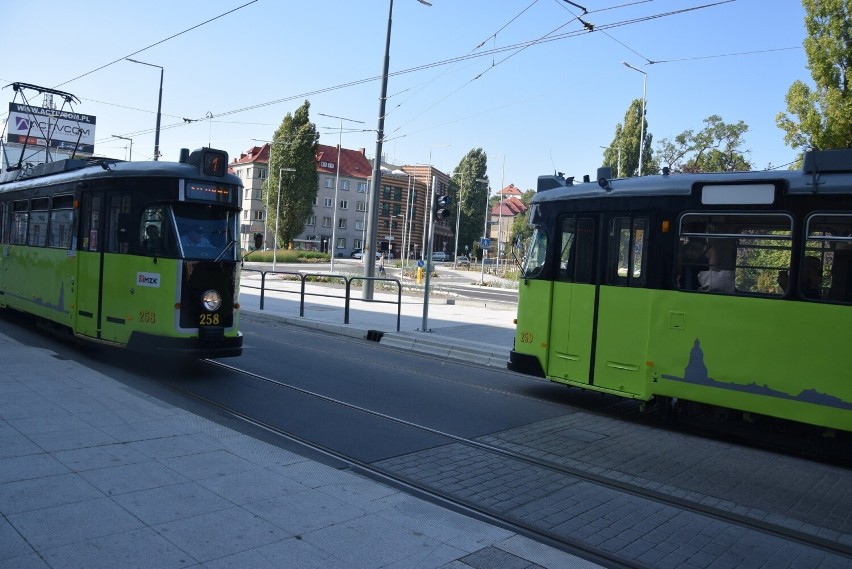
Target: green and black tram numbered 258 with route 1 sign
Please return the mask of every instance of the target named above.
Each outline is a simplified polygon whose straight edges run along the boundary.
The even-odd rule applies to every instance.
[[[4,173],[0,307],[134,351],[239,356],[242,183],[227,165],[204,148]]]

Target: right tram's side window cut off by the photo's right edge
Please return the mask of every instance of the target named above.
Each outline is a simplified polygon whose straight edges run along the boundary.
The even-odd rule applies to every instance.
[[[814,214],[798,286],[811,300],[852,302],[852,213]]]

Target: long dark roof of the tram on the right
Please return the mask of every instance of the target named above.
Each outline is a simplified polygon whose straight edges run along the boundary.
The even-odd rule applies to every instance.
[[[600,177],[573,183],[561,175],[539,176],[532,203],[575,199],[687,196],[697,187],[773,184],[787,194],[852,194],[852,149],[805,153],[801,170],[762,170],[699,174],[663,174],[635,178]],[[605,172],[604,172],[605,174]]]

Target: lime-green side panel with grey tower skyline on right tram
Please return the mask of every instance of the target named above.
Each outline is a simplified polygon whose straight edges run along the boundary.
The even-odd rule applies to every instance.
[[[848,309],[659,296],[648,350],[653,394],[852,431]]]

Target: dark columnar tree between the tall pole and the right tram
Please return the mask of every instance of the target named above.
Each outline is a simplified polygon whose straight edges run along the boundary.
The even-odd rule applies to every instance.
[[[481,148],[473,148],[461,159],[453,172],[453,183],[459,188],[455,207],[461,208],[459,217],[459,249],[478,247],[485,222],[485,200],[488,196],[488,155]],[[455,212],[454,212],[455,213]]]

